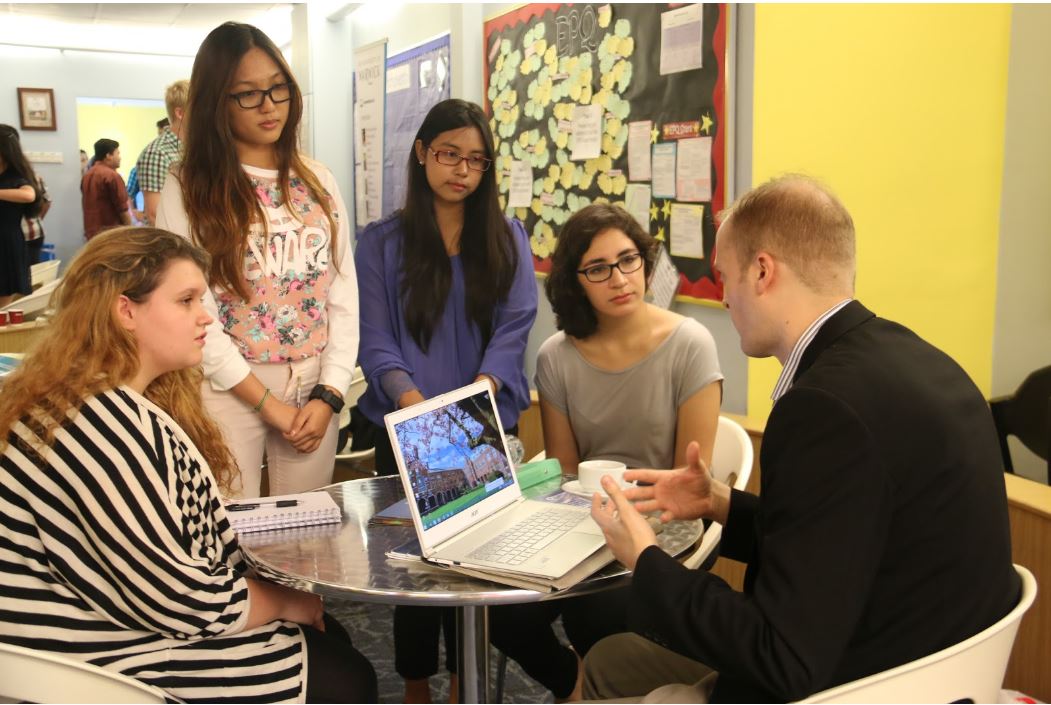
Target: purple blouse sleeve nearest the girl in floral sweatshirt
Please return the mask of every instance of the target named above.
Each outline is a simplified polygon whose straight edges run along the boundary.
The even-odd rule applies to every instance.
[[[354,251],[362,326],[357,359],[369,385],[379,385],[391,370],[413,374],[397,339],[397,262],[388,262],[396,260],[397,248],[385,246],[397,236],[391,231],[396,227],[390,221],[369,226]]]

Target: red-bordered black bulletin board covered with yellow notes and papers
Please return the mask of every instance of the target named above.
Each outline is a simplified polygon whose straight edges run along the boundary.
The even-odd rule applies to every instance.
[[[671,251],[678,298],[722,298],[710,263],[714,214],[730,198],[728,13],[725,4],[532,3],[486,21],[500,205],[526,224],[537,272],[550,271],[572,213],[610,202]]]

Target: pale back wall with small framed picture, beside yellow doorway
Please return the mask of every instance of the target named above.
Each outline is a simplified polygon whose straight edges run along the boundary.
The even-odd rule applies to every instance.
[[[16,88],[51,88],[55,91],[57,131],[19,130],[22,148],[62,152],[62,164],[34,164],[51,196],[44,220],[47,242],[55,243],[59,258],[68,263],[84,242],[80,206],[80,149],[91,154],[91,145],[78,144],[77,98],[163,100],[164,88],[189,78],[192,59],[145,57],[57,49],[0,46],[0,123],[19,127]],[[103,137],[103,136],[99,136]],[[138,154],[126,154],[135,160]],[[65,264],[63,264],[65,267]]]

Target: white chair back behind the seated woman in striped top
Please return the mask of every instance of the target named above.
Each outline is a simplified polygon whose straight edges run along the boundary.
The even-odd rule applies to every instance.
[[[163,703],[160,688],[55,654],[0,643],[0,701]],[[9,702],[9,701],[4,701]]]

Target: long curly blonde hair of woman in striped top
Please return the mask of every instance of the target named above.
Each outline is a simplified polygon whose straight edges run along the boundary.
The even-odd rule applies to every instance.
[[[0,388],[0,451],[22,419],[32,419],[49,443],[85,398],[127,383],[138,373],[138,346],[117,320],[117,299],[146,300],[180,260],[202,272],[210,264],[207,252],[158,228],[116,228],[91,239],[53,296],[57,310],[47,332]],[[145,396],[182,427],[227,493],[238,465],[204,409],[202,378],[198,368],[168,372],[146,388]]]

